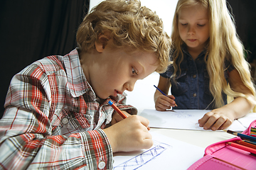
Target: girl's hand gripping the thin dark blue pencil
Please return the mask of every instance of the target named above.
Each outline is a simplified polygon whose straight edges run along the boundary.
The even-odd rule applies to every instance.
[[[174,95],[159,95],[158,98],[156,98],[155,101],[155,108],[156,111],[166,111],[166,109],[170,109],[171,107],[176,106],[176,102],[174,101],[175,97]]]

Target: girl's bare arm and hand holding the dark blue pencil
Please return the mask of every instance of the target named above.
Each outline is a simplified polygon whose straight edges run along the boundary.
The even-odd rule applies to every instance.
[[[158,88],[163,91],[165,94],[168,94],[171,86],[171,82],[168,78],[161,77],[159,78]],[[173,95],[164,96],[160,91],[156,90],[154,94],[154,102],[156,111],[166,111],[174,107],[176,102],[174,101]]]

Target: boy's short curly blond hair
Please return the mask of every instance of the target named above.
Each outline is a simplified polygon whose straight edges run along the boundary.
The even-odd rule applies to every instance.
[[[98,35],[106,32],[114,47],[154,52],[159,59],[156,72],[165,72],[171,63],[171,40],[163,30],[163,22],[138,0],[106,0],[92,8],[78,28],[78,47],[90,52]]]

